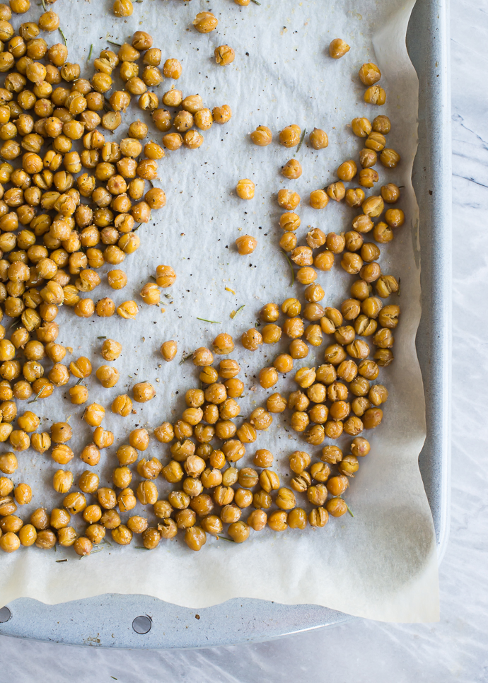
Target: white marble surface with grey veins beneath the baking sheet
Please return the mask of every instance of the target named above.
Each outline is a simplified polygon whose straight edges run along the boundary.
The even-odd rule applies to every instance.
[[[391,626],[356,620],[272,643],[188,652],[114,652],[0,637],[2,683],[488,681],[488,12],[479,0],[455,0],[451,15],[453,473],[441,621]]]

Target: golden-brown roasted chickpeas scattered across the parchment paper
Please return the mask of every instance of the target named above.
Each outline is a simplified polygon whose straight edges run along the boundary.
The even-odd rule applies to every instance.
[[[366,117],[355,118],[352,130],[365,139],[359,153],[361,170],[358,173],[355,160],[346,160],[337,169],[336,182],[310,194],[313,209],[325,209],[330,199],[344,200],[357,211],[361,208],[362,214],[352,218],[352,230],[325,234],[320,228],[310,228],[305,244],[298,245],[301,219],[295,210],[301,197],[288,188],[277,194],[277,202],[284,209],[279,219],[284,230],[280,247],[289,255],[294,272],[296,269],[296,281],[304,287],[303,300],[290,297],[281,305],[268,303],[260,311],[260,324],[243,332],[240,341],[244,349],[254,352],[263,344],[289,339],[288,352],[276,355],[257,379],[263,389],[273,390],[280,374],[293,373],[296,390],[287,397],[270,393],[265,406],[252,409],[247,419],[240,419],[237,399],[243,395],[244,383],[238,377],[239,363],[228,357],[235,348],[233,337],[218,334],[211,349],[202,346],[192,354],[200,385],[185,393],[186,408],[180,418],[165,421],[153,430],[137,424],[129,432],[127,443],[117,446],[118,465],[112,470],[109,486],[100,486],[93,469],[86,469],[75,482],[74,473],[68,469],[71,460],[79,457],[88,468],[96,467],[114,445],[115,434],[103,424],[106,408],[88,403],[88,387],[83,382],[93,374],[90,359],[80,356],[69,364],[62,363],[66,349],[56,343],[59,307],[65,303],[79,317],[93,313],[136,317],[139,308],[134,300],[116,305],[104,298],[95,303],[83,294],[100,284],[100,267],[120,265],[125,255],[139,248],[136,223],[149,222],[151,211],[165,205],[163,190],[153,187],[153,180],[158,180],[158,160],[165,156],[163,147],[198,148],[203,136],[193,127],[207,130],[214,121],[225,123],[231,110],[223,105],[211,112],[200,95],[183,98],[183,93],[174,88],[163,95],[162,104],[175,109],[175,115],[160,108],[158,95],[148,88],[158,86],[163,78],[178,79],[181,64],[167,59],[161,73],[161,50],[152,47],[148,33],[138,31],[132,44],[124,43],[117,53],[110,49],[100,52],[93,64],[95,74],[88,81],[80,78],[79,64],[66,61],[66,46],[48,48],[37,38],[40,30],[59,26],[57,15],[49,12],[38,25],[23,24],[16,36],[8,23],[9,12],[0,5],[0,40],[7,44],[0,60],[3,57],[3,71],[9,72],[4,88],[0,88],[0,139],[4,141],[0,156],[5,160],[0,164],[0,250],[2,257],[6,255],[0,259],[0,298],[4,304],[1,315],[14,318],[16,329],[6,339],[3,327],[0,339],[0,441],[8,441],[12,449],[0,455],[4,475],[0,476],[0,549],[12,552],[21,545],[50,549],[59,544],[72,546],[76,554],[85,556],[103,545],[107,530],[117,544],[129,545],[134,535],[141,535],[142,547],[156,549],[161,540],[175,538],[180,530],[187,546],[199,551],[207,535],[220,537],[225,533],[240,543],[250,537],[251,530],[324,527],[329,515],[341,517],[349,509],[342,496],[359,469],[361,457],[371,450],[361,434],[378,427],[383,419],[388,389],[376,380],[380,368],[393,361],[393,331],[400,317],[400,307],[386,301],[399,293],[400,283],[384,274],[378,263],[378,244],[390,242],[393,230],[405,221],[401,209],[385,211],[385,204],[396,204],[400,199],[400,188],[388,182],[381,186],[379,195],[369,197],[363,189],[372,189],[379,180],[373,170],[378,153],[384,168],[395,168],[400,162],[398,153],[386,147],[390,120],[384,115],[372,123]],[[129,16],[132,3],[115,0],[114,12]],[[209,33],[216,23],[209,12],[199,13],[194,21],[200,33]],[[342,40],[332,41],[331,57],[339,59],[349,49]],[[233,51],[225,45],[215,54],[218,64],[233,59]],[[40,61],[45,57],[49,62],[46,65]],[[108,97],[105,93],[112,90],[112,73],[117,68],[124,90],[113,91]],[[378,67],[364,64],[359,76],[368,86],[366,103],[383,104],[385,93],[376,86]],[[62,81],[73,83],[71,90],[59,86]],[[156,129],[164,133],[163,147],[153,141],[143,144],[149,127],[140,120],[130,123],[128,137],[119,143],[105,141],[99,128],[113,132],[120,127],[132,95],[138,98],[139,108],[149,112]],[[171,127],[176,132],[170,132]],[[291,124],[279,132],[279,144],[298,148],[303,137],[300,127]],[[259,126],[251,140],[257,146],[268,146],[272,132]],[[83,145],[80,153],[73,149],[77,141]],[[52,149],[42,156],[42,147],[48,142]],[[325,131],[314,128],[309,144],[315,150],[327,147]],[[10,162],[19,157],[21,167],[16,168]],[[287,180],[296,180],[303,169],[291,158],[281,173]],[[344,185],[354,182],[356,175],[361,187]],[[149,189],[146,182],[151,185]],[[5,189],[8,184],[11,187]],[[252,199],[254,182],[240,180],[236,192],[241,199]],[[378,220],[374,222],[373,218]],[[364,241],[368,232],[374,241]],[[256,244],[250,235],[236,240],[240,255],[252,253]],[[324,305],[325,290],[318,283],[318,272],[330,271],[335,255],[341,255],[344,271],[358,276],[352,282],[350,297],[337,308]],[[173,267],[159,265],[156,282],[143,286],[141,299],[147,305],[158,304],[159,288],[172,286],[175,279]],[[108,284],[115,290],[124,288],[127,276],[120,269],[112,269]],[[35,339],[31,338],[33,332]],[[303,361],[313,354],[313,347],[318,351],[319,346],[323,346],[320,362],[308,366],[300,363],[295,368],[294,361]],[[177,351],[174,340],[161,346],[165,361],[172,361]],[[120,357],[122,344],[105,339],[100,353],[106,363],[94,375],[104,389],[111,389],[120,381],[112,363]],[[19,360],[20,355],[25,361]],[[41,361],[46,356],[53,366],[44,377]],[[221,356],[216,366],[215,356]],[[73,437],[69,421],[55,422],[49,431],[38,431],[40,417],[30,410],[18,415],[14,400],[33,395],[35,400],[45,398],[70,378],[78,382],[69,388],[69,399],[83,406],[82,419],[93,430],[91,443],[76,450],[74,444],[69,445]],[[115,396],[110,410],[127,418],[135,412],[134,403],[145,404],[154,398],[155,387],[139,382],[132,387],[132,396]],[[289,455],[291,478],[286,486],[272,469],[274,455],[269,450],[255,450],[252,467],[243,460],[246,456],[250,460],[248,445],[255,444],[259,432],[272,426],[273,415],[285,411],[292,430],[301,433],[308,445],[320,447],[314,461],[305,450]],[[352,438],[346,455],[330,443],[344,435]],[[155,445],[166,450],[163,457],[152,455]],[[52,488],[62,498],[59,507],[50,512],[37,508],[24,522],[16,513],[19,506],[33,500],[33,491],[11,477],[18,469],[16,454],[28,448],[46,453],[59,466],[52,477]],[[244,466],[238,467],[238,462]],[[167,484],[171,490],[160,498]],[[297,494],[305,496],[304,507],[298,505]],[[142,512],[136,506],[141,506]]]

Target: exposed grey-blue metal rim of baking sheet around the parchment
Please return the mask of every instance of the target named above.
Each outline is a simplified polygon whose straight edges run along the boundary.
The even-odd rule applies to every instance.
[[[412,180],[423,228],[422,310],[429,312],[422,314],[417,332],[427,418],[419,466],[434,518],[440,563],[449,534],[451,475],[448,0],[417,2],[409,22],[407,47],[419,76],[419,150]],[[136,633],[132,624],[137,617],[146,617],[149,631]],[[266,641],[354,618],[318,605],[281,605],[236,598],[194,610],[146,595],[108,594],[61,605],[44,605],[28,598],[15,600],[0,610],[0,634],[105,648],[205,648]]]

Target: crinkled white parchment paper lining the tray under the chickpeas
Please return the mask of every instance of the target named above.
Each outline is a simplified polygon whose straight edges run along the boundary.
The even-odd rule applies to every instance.
[[[380,370],[378,380],[387,385],[390,398],[383,424],[365,433],[371,440],[371,454],[361,461],[347,491],[354,518],[346,515],[331,519],[325,528],[308,527],[306,532],[254,532],[252,539],[241,545],[209,538],[199,553],[189,551],[181,539],[161,542],[152,552],[135,549],[134,545],[141,545],[137,540],[129,549],[112,543],[81,560],[71,549],[21,549],[0,558],[1,604],[22,596],[54,603],[122,592],[149,594],[187,607],[206,607],[231,597],[255,597],[326,605],[384,621],[438,619],[434,527],[417,465],[425,434],[424,395],[414,346],[420,316],[419,217],[410,182],[417,146],[418,86],[405,49],[413,0],[262,0],[260,6],[251,3],[242,8],[227,0],[194,0],[188,4],[143,0],[134,4],[134,14],[127,21],[115,19],[111,5],[108,0],[60,0],[56,4],[70,61],[86,64],[91,76],[93,66],[87,64],[87,57],[92,43],[93,61],[100,49],[110,47],[107,40],[123,42],[134,30],[149,30],[154,46],[163,49],[163,59],[177,57],[182,62],[183,73],[176,87],[184,95],[200,93],[209,107],[231,105],[233,118],[225,126],[214,124],[204,132],[205,141],[198,151],[182,148],[161,160],[161,187],[168,203],[154,214],[151,223],[139,229],[141,249],[122,266],[129,276],[127,288],[113,292],[104,284],[95,291],[96,298],[112,296],[116,303],[137,299],[141,285],[150,281],[156,265],[171,264],[178,280],[170,298],[162,299],[165,310],[148,307],[139,299],[141,310],[135,321],[117,316],[80,320],[66,307],[59,314],[62,326],[58,341],[72,346],[74,357],[93,357],[95,368],[104,362],[98,354],[103,342],[97,337],[112,337],[124,345],[115,363],[120,383],[111,390],[100,387],[95,378],[88,383],[90,401],[107,407],[104,424],[116,438],[94,468],[100,474],[100,485],[110,486],[110,474],[117,466],[115,450],[127,440],[129,431],[134,426],[153,428],[164,420],[177,419],[185,390],[198,386],[197,370],[191,361],[178,365],[178,360],[162,360],[158,349],[163,341],[178,342],[179,359],[183,351],[209,344],[218,332],[230,332],[237,340],[243,330],[255,324],[264,303],[301,296],[300,285],[289,287],[289,266],[277,244],[281,231],[276,193],[281,187],[292,187],[301,194],[297,211],[302,218],[302,240],[309,225],[326,233],[349,229],[354,211],[335,202],[324,211],[314,211],[308,205],[308,194],[335,180],[335,169],[343,160],[357,158],[361,141],[351,132],[351,119],[358,115],[372,119],[378,113],[390,116],[388,146],[402,156],[393,171],[387,172],[378,163],[378,188],[388,180],[405,186],[400,206],[407,216],[405,225],[395,230],[393,243],[381,247],[383,272],[401,279],[401,296],[393,302],[402,308],[395,331],[395,361]],[[202,10],[211,10],[219,18],[219,27],[209,35],[200,35],[191,25]],[[34,12],[37,10],[31,10]],[[327,52],[334,37],[342,37],[352,46],[338,61],[330,59]],[[48,38],[48,42],[58,40],[58,35]],[[213,57],[214,47],[222,44],[236,50],[235,62],[226,68],[217,66]],[[366,105],[362,100],[364,87],[357,71],[368,61],[378,63],[383,72],[381,85],[388,96],[384,107]],[[158,92],[162,95],[169,87],[170,82],[165,81]],[[144,112],[134,113],[144,117]],[[127,134],[131,120],[132,115],[127,114],[119,131],[108,139]],[[257,148],[248,134],[265,124],[277,138],[279,129],[291,123],[308,131],[313,127],[325,129],[330,144],[325,150],[313,151],[307,134],[296,153],[303,175],[299,180],[286,181],[279,169],[295,150],[286,150],[276,140],[267,148]],[[153,128],[150,136],[161,139]],[[234,188],[242,177],[255,181],[252,202],[236,197]],[[234,247],[238,235],[245,233],[258,240],[257,250],[250,257],[238,256]],[[108,269],[105,266],[102,271]],[[331,272],[319,273],[318,281],[326,291],[323,305],[339,305],[349,296],[352,277],[342,272],[337,261]],[[236,291],[236,296],[226,291],[226,286]],[[245,308],[231,320],[230,313],[243,304]],[[197,317],[221,324],[210,325]],[[255,380],[257,370],[284,351],[287,342],[282,340],[278,346],[262,346],[251,355],[236,344],[232,357],[240,361],[246,384],[241,416],[265,404],[272,391],[288,392],[294,386],[291,378],[281,378],[277,387],[266,391]],[[324,348],[311,351],[308,358],[296,362],[296,368],[323,362]],[[134,404],[137,413],[127,419],[113,415],[112,399],[125,390],[130,393],[130,387],[141,380],[153,382],[158,390],[156,399],[144,407]],[[82,409],[71,406],[66,395],[57,390],[53,397],[29,409],[42,416],[44,429],[54,419],[71,415],[74,438],[70,445],[79,453],[91,441],[90,430],[81,423]],[[19,406],[19,411],[25,408]],[[290,476],[288,455],[293,450],[320,455],[320,448],[309,447],[291,431],[287,419],[286,415],[275,416],[272,428],[259,433],[239,466],[250,464],[256,448],[269,448],[286,485]],[[342,440],[341,445],[346,448],[349,441]],[[8,445],[2,450],[8,450]],[[166,462],[168,447],[152,438],[144,456],[148,454]],[[59,466],[49,453],[27,451],[21,453],[19,461],[13,478],[16,483],[32,484],[34,491],[33,503],[19,510],[21,516],[26,518],[38,506],[60,506],[62,496],[52,491],[52,475]],[[87,467],[75,457],[66,469],[74,472],[76,482]],[[138,481],[134,474],[132,485]],[[161,498],[165,497],[168,484],[160,477],[157,485]],[[134,513],[149,514],[150,522],[156,522],[152,511],[144,511],[139,503]],[[75,525],[83,529],[83,525]],[[67,562],[56,562],[64,557]]]

